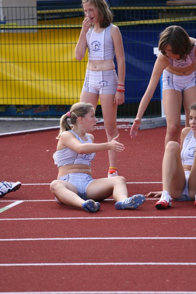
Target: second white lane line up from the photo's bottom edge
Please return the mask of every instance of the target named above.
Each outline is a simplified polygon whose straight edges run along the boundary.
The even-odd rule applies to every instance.
[[[0,267],[55,267],[55,266],[196,266],[196,262],[99,262],[99,263],[16,263]]]

